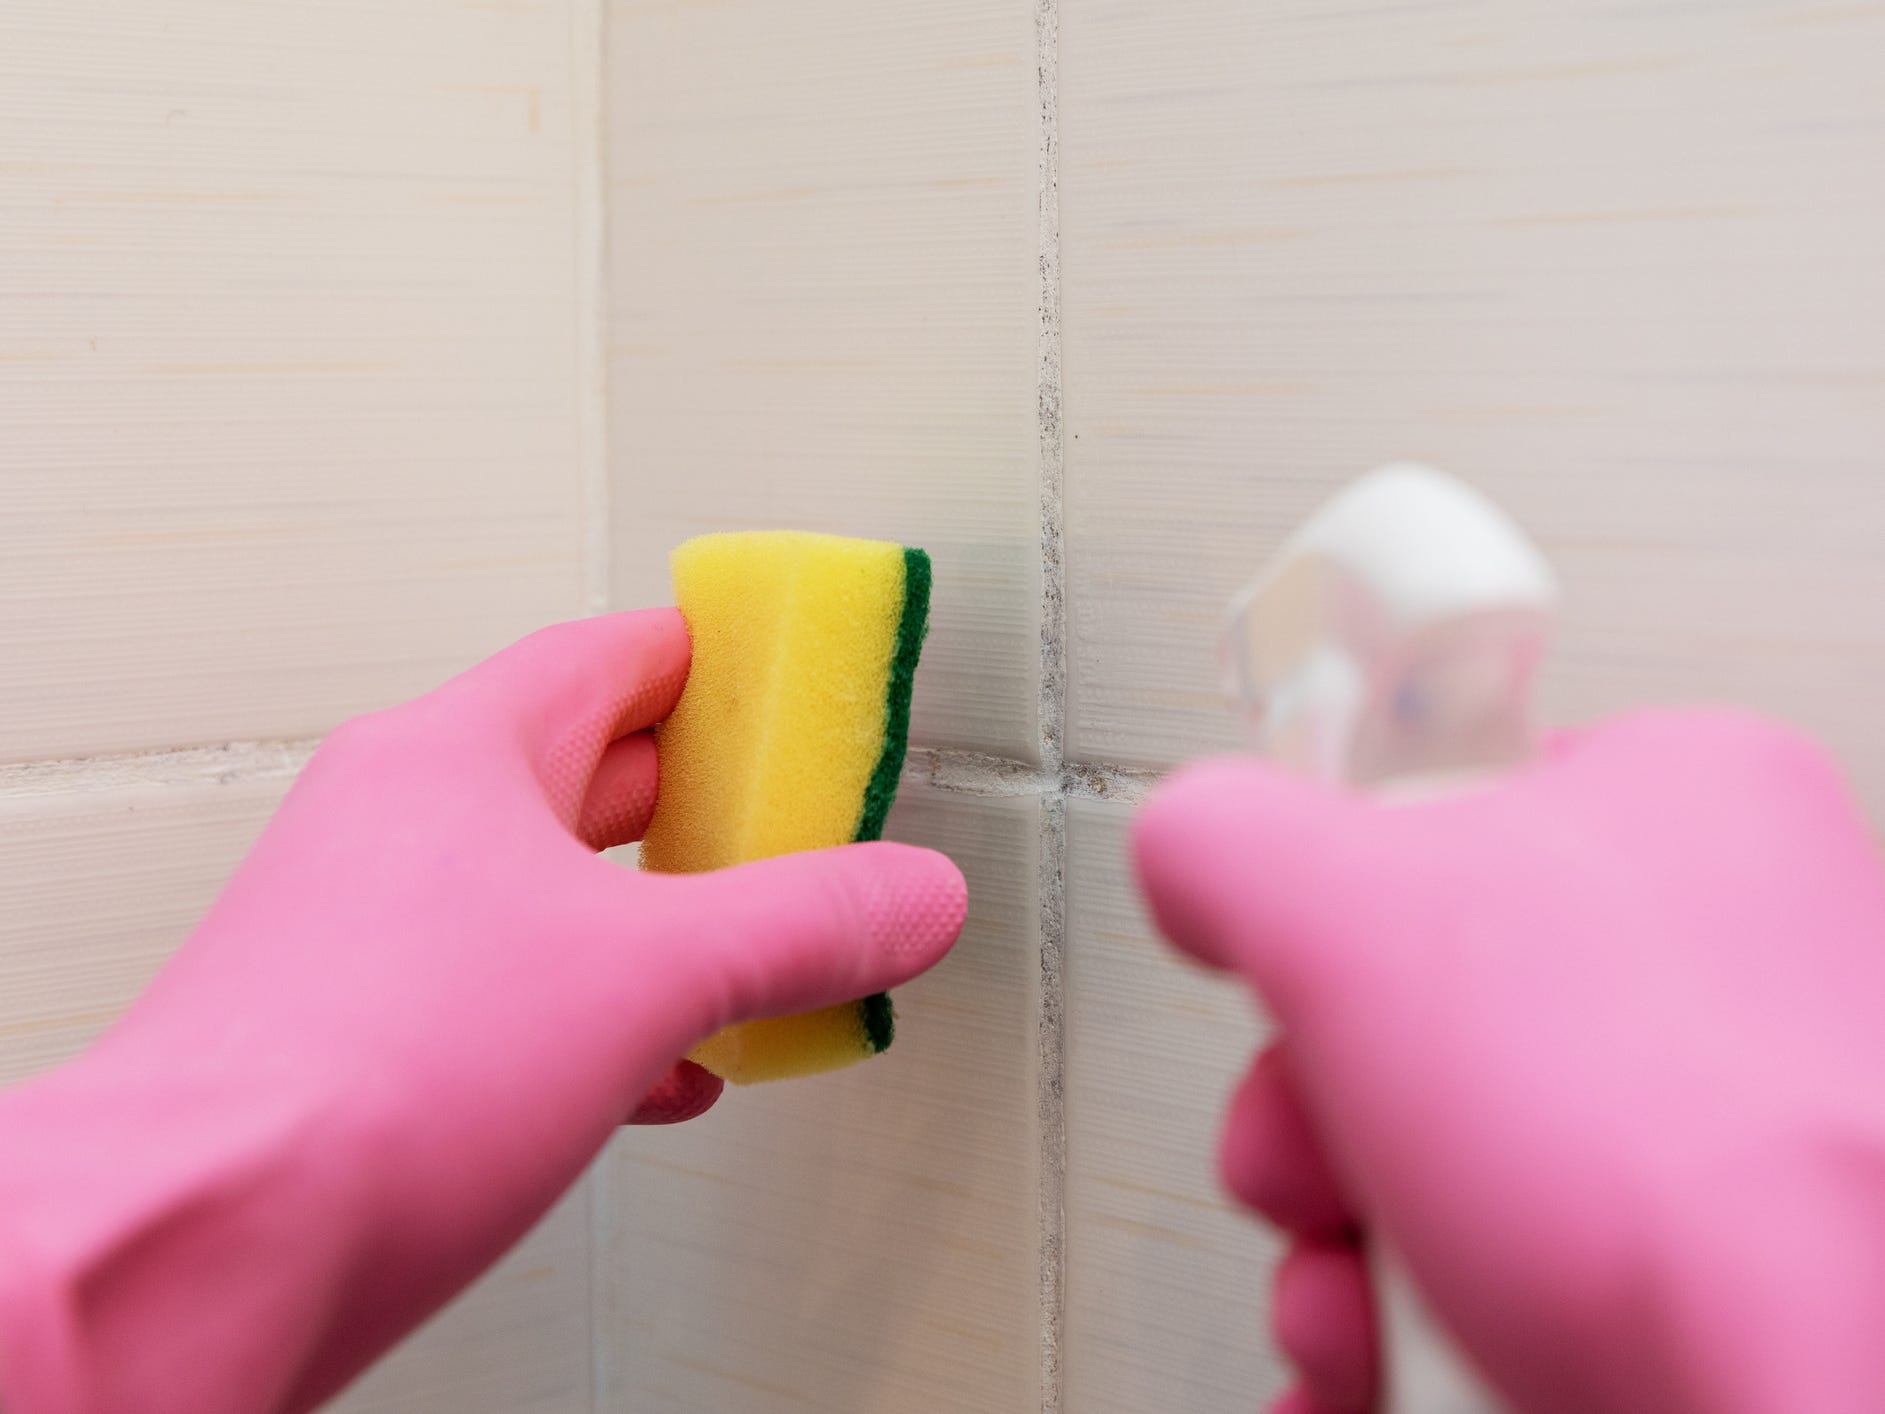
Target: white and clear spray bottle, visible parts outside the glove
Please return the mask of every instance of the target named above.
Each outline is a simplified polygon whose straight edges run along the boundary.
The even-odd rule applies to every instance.
[[[1534,750],[1557,615],[1504,511],[1416,464],[1361,477],[1231,601],[1223,690],[1267,758],[1387,799],[1467,790]],[[1385,1414],[1506,1414],[1385,1242],[1369,1244]]]

